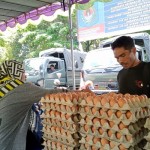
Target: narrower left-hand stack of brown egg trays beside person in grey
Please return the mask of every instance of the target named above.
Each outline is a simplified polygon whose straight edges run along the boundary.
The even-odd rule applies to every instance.
[[[75,149],[79,147],[77,98],[75,93],[58,93],[46,95],[41,99],[44,111],[41,115],[43,139],[46,148]]]

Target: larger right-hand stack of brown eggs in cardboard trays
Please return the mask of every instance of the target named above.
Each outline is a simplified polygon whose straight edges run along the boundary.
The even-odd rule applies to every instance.
[[[150,100],[145,95],[108,93],[88,96],[80,104],[81,149],[139,150]]]

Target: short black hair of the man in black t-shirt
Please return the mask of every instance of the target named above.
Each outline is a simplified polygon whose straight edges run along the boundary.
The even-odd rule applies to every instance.
[[[121,36],[111,44],[112,50],[118,47],[123,47],[124,49],[130,51],[133,47],[135,47],[135,44],[130,36]]]

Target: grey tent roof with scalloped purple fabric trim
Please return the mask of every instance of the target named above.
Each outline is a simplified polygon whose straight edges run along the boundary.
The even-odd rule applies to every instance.
[[[89,0],[70,0],[71,4]],[[37,20],[40,15],[51,16],[58,9],[67,9],[69,0],[0,0],[0,30],[24,24],[28,19]]]

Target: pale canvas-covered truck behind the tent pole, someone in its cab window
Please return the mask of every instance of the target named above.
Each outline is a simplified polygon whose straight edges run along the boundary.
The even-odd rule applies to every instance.
[[[75,61],[75,83],[80,85],[80,71],[83,67],[86,52],[74,50]],[[39,53],[39,57],[24,60],[27,81],[37,83],[42,79],[44,88],[54,88],[59,80],[59,86],[73,87],[71,51],[65,48],[53,48]],[[55,71],[49,73],[51,65]],[[54,82],[55,81],[55,82]]]

